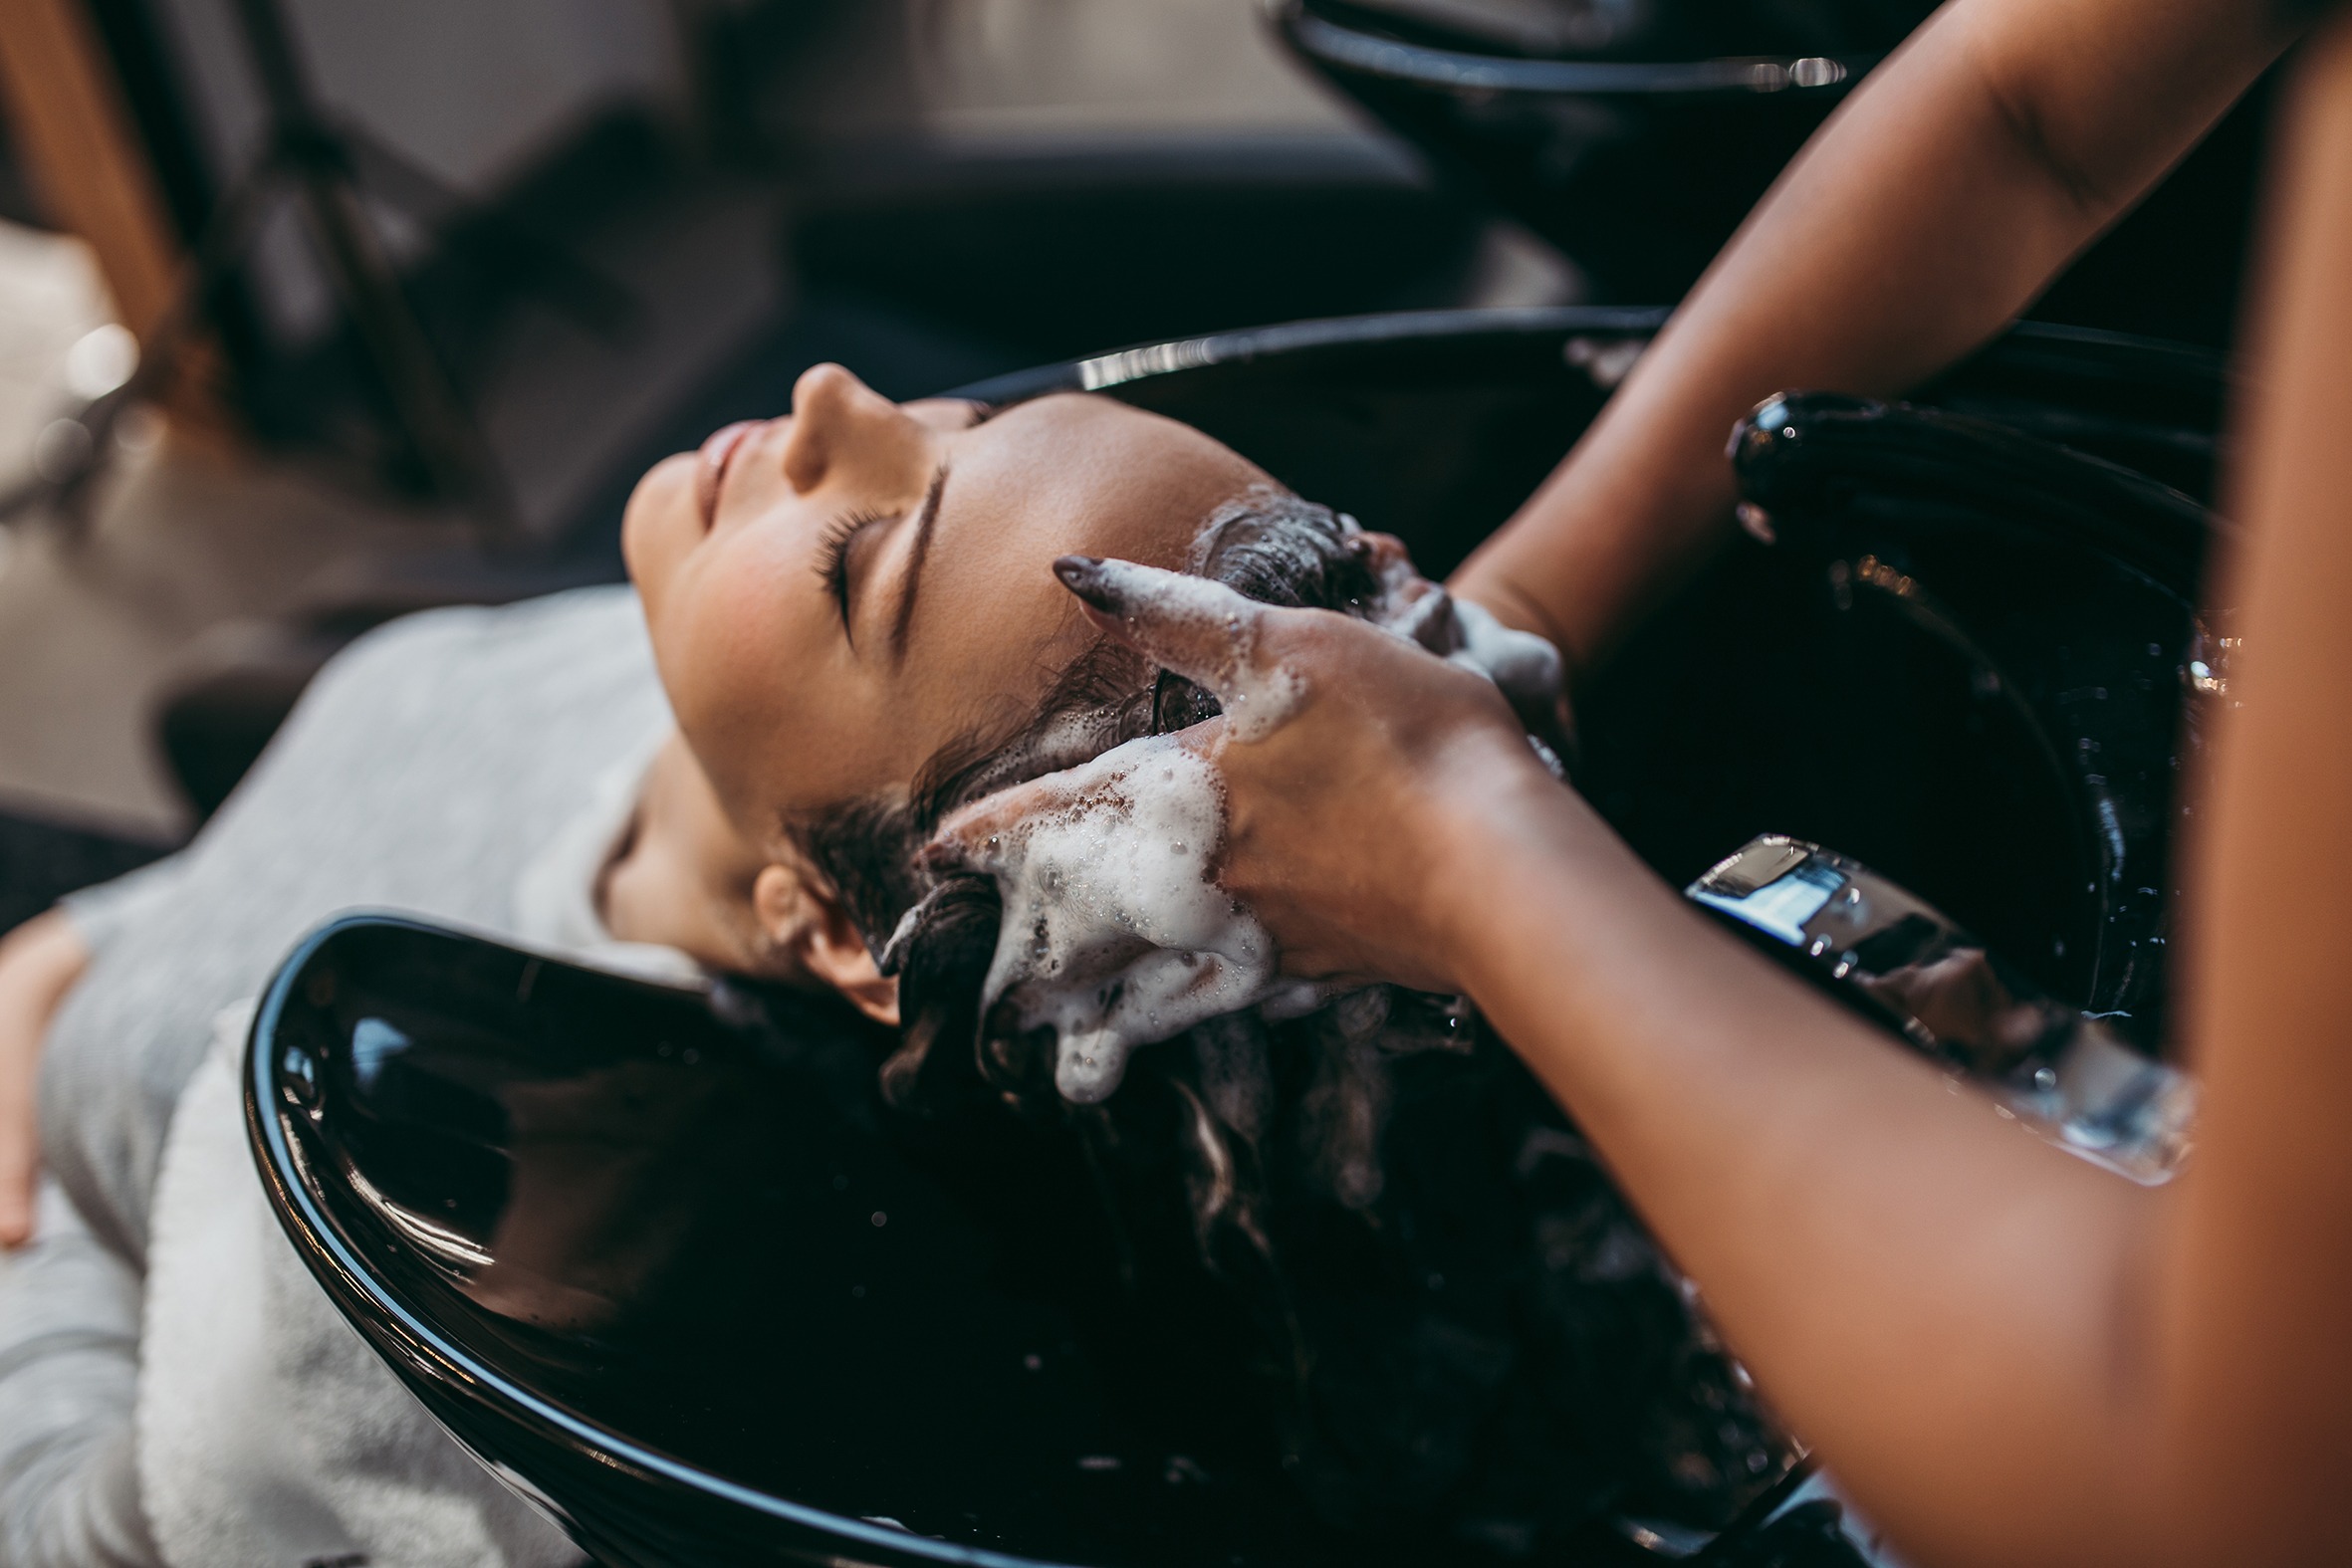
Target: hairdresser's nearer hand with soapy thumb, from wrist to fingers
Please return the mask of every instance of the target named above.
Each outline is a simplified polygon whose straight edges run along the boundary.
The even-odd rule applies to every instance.
[[[1056,571],[1096,625],[1225,708],[1188,731],[1225,780],[1218,882],[1275,933],[1284,973],[1461,990],[1475,889],[1454,837],[1569,795],[1494,682],[1334,611],[1127,562]]]

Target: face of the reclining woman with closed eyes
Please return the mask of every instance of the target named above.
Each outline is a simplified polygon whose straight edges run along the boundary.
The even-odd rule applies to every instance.
[[[1105,397],[894,404],[837,364],[630,496],[628,571],[677,724],[767,842],[1018,722],[1094,632],[1056,555],[1181,567],[1265,475]]]

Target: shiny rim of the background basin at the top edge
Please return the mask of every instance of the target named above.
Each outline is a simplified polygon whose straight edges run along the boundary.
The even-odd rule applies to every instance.
[[[1562,96],[1698,96],[1698,94],[1837,94],[1877,56],[1759,56],[1691,61],[1583,61],[1472,54],[1381,38],[1284,5],[1277,26],[1319,63],[1446,92],[1529,92]]]

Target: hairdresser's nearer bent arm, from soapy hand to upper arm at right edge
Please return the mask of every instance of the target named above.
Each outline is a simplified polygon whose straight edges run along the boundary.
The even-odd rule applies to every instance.
[[[1105,632],[1221,693],[1303,677],[1265,738],[1195,731],[1221,882],[1296,973],[1465,987],[1922,1563],[2352,1561],[2352,16],[2300,87],[2173,1187],[2037,1143],[1717,931],[1477,677],[1317,611],[1171,618],[1134,569],[1065,564]]]

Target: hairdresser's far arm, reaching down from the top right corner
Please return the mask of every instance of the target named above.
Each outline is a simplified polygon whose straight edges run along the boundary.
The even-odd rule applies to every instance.
[[[2293,38],[2284,0],[1952,0],[1780,176],[1454,588],[1585,670],[1731,534],[1731,425],[1896,395],[2136,202]]]

